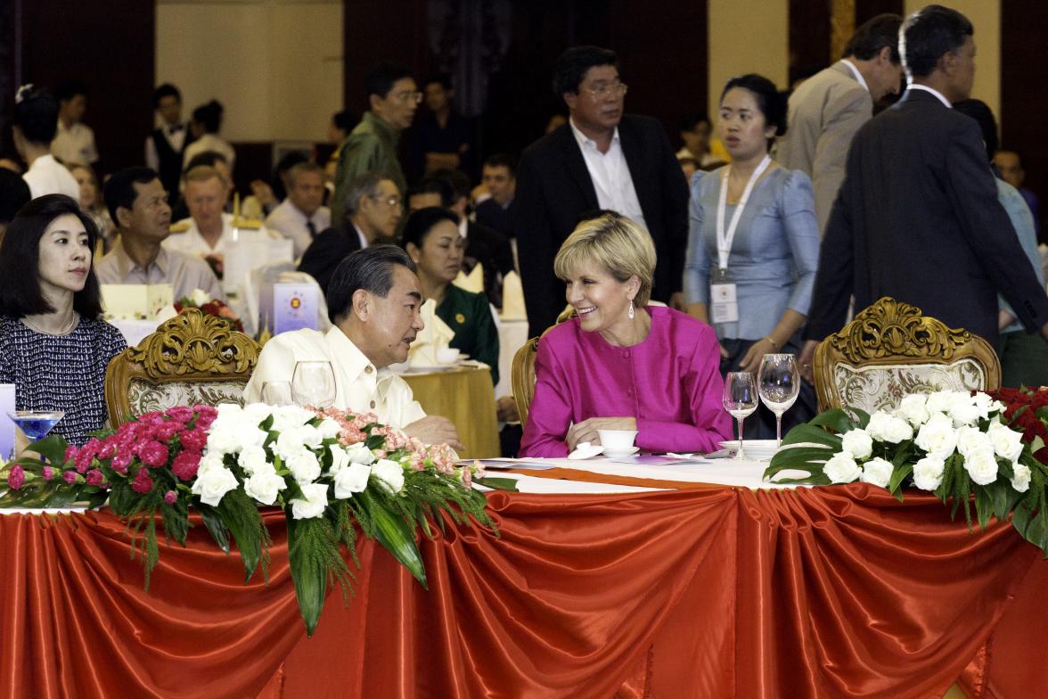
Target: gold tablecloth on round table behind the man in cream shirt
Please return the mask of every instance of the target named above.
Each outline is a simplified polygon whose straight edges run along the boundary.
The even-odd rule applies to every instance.
[[[439,371],[402,374],[427,415],[442,415],[455,423],[464,459],[499,456],[495,387],[487,367],[457,366]]]

